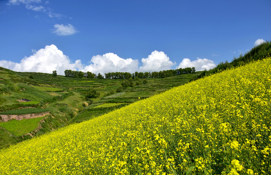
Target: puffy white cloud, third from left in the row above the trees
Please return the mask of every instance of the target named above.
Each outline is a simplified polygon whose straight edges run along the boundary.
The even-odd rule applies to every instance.
[[[141,59],[143,66],[139,68],[139,71],[160,71],[160,70],[170,70],[175,63],[170,61],[167,54],[164,52],[154,51],[152,52],[148,58]]]

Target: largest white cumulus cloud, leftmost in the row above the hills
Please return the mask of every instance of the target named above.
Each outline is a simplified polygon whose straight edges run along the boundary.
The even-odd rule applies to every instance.
[[[44,49],[39,49],[29,57],[23,58],[20,63],[0,60],[0,67],[21,72],[44,72],[52,73],[57,70],[58,74],[64,75],[64,70],[81,70],[80,60],[72,63],[68,56],[64,55],[57,46],[50,45]]]

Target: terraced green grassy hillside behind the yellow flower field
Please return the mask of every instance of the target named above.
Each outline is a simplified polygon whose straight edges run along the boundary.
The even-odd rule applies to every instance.
[[[147,79],[146,84],[117,93],[116,89],[123,80],[53,77],[47,73],[14,72],[0,68],[0,115],[50,111],[50,115],[39,120],[0,123],[0,148],[67,124],[95,118],[136,102],[138,97],[144,99],[185,84],[199,73]],[[90,89],[97,91],[97,97],[86,99]],[[21,99],[30,101],[19,102]]]

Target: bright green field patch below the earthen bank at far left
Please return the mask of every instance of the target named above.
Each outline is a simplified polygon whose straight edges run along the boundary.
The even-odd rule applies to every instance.
[[[43,117],[33,119],[22,119],[20,121],[11,120],[8,122],[0,123],[0,127],[6,129],[9,133],[13,134],[14,136],[21,136],[35,130],[38,127],[39,121],[42,118]]]

